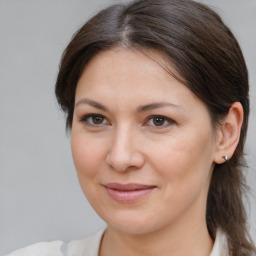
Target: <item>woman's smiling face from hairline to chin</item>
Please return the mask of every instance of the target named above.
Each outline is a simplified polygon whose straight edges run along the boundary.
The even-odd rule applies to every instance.
[[[71,146],[84,194],[109,227],[144,234],[205,223],[217,154],[209,113],[146,55],[115,49],[89,62]]]

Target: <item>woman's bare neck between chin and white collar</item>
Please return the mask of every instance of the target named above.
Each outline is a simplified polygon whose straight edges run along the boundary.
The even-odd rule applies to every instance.
[[[100,256],[209,256],[213,242],[206,223],[194,222],[176,229],[165,227],[147,234],[126,234],[108,227],[104,235]],[[185,225],[184,225],[185,226]]]

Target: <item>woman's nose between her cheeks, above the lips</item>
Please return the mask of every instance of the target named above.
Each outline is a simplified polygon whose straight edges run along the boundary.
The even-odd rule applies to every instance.
[[[112,136],[107,163],[116,171],[136,170],[143,166],[144,156],[139,150],[138,135],[127,127],[120,127]]]

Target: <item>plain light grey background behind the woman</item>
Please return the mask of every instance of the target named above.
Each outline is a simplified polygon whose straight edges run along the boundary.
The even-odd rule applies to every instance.
[[[80,190],[54,84],[72,34],[113,2],[0,0],[0,255],[38,241],[79,239],[105,225]],[[248,212],[256,241],[256,1],[201,2],[231,27],[249,69]]]

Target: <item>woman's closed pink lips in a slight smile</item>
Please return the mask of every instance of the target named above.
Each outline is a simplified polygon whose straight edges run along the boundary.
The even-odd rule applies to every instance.
[[[129,203],[139,200],[156,188],[156,186],[135,183],[108,183],[104,187],[110,197],[121,203]]]

